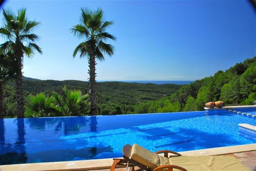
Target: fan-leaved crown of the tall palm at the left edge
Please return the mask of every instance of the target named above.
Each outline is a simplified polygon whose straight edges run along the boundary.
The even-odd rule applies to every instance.
[[[42,54],[42,49],[34,43],[39,40],[39,36],[32,33],[40,22],[28,21],[26,8],[19,9],[17,14],[11,9],[3,9],[3,21],[3,27],[0,28],[0,34],[6,39],[0,45],[3,51],[14,50],[15,53],[25,53],[28,57],[32,57],[35,51]]]

